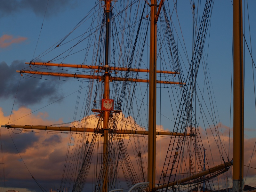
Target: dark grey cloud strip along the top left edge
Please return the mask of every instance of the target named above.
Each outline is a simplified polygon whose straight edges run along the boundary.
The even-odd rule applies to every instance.
[[[57,14],[67,8],[74,8],[78,0],[50,0],[47,14]],[[47,0],[0,0],[0,16],[12,15],[20,11],[33,11],[36,15],[44,15]]]

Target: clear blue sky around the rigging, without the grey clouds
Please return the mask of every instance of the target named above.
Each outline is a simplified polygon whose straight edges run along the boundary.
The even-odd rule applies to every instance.
[[[1,47],[0,56],[1,61],[11,65],[14,60],[20,60],[22,62],[28,62],[33,58],[34,52],[35,56],[39,53],[42,53],[44,50],[49,48],[52,44],[57,42],[61,37],[65,36],[75,24],[83,18],[86,11],[88,11],[89,4],[83,1],[74,1],[74,3],[68,3],[64,1],[63,4],[55,3],[51,5],[49,2],[49,7],[45,14],[44,24],[41,31],[40,38],[39,33],[42,26],[44,12],[46,7],[46,2],[40,3],[37,5],[22,6],[15,9],[12,12],[2,12],[1,25],[4,26],[1,30],[1,36],[11,36],[12,39],[26,38],[18,43],[12,43],[9,46]],[[24,1],[24,4],[29,1]],[[254,1],[248,1],[249,7],[249,16],[251,21],[251,36],[252,36],[252,51],[253,51],[253,42],[255,42],[255,37],[252,35],[255,31],[255,26],[253,23],[254,13],[252,8],[254,7]],[[185,6],[186,5],[186,6]],[[188,1],[178,2],[178,13],[181,12],[182,6],[190,6]],[[42,8],[44,6],[44,8]],[[189,10],[188,6],[188,10]],[[179,10],[180,9],[180,10]],[[243,10],[244,11],[244,10]],[[188,11],[189,12],[189,11]],[[181,23],[182,33],[186,47],[189,50],[191,45],[191,20],[188,20],[189,13],[185,15],[179,14],[179,20]],[[247,11],[246,11],[247,14]],[[249,30],[248,22],[245,24],[245,36],[248,38],[247,42],[249,43]],[[68,26],[68,27],[66,27]],[[189,26],[189,30],[187,29]],[[208,33],[209,34],[209,33]],[[36,47],[36,42],[38,44]],[[10,42],[11,40],[6,40]],[[179,46],[179,45],[178,45]],[[208,44],[207,44],[208,46]],[[250,45],[249,45],[250,46]],[[35,51],[36,48],[36,51]],[[207,51],[207,50],[206,50]],[[188,51],[189,54],[189,51]],[[245,97],[250,95],[250,99],[253,102],[253,80],[252,80],[252,67],[251,60],[248,54],[248,51],[245,52],[246,63],[245,63],[245,72],[251,73],[249,76],[245,76]],[[232,60],[232,2],[231,1],[215,1],[213,5],[212,20],[211,20],[211,30],[210,30],[210,39],[209,39],[209,52],[208,52],[208,66],[212,77],[212,84],[214,88],[214,93],[216,96],[216,102],[219,109],[220,116],[223,119],[220,119],[221,122],[228,125],[229,124],[229,108],[230,108],[230,81],[231,81],[231,60]],[[21,62],[21,63],[22,63]],[[78,61],[79,62],[79,61]],[[74,61],[76,63],[76,61]],[[80,63],[80,62],[79,62]],[[24,65],[24,68],[26,65]],[[20,70],[20,68],[16,68]],[[14,74],[15,75],[15,74]],[[18,76],[18,74],[16,74]],[[24,81],[24,79],[22,79]],[[68,84],[68,83],[65,83]],[[74,86],[74,85],[73,85]],[[72,88],[72,86],[68,86]],[[62,87],[61,87],[62,88]],[[63,91],[63,88],[62,88]],[[75,89],[74,89],[75,91]],[[70,93],[69,91],[68,93]],[[62,92],[63,93],[63,92]],[[66,93],[66,92],[65,92]],[[63,93],[63,95],[66,95]],[[220,97],[221,95],[221,97]],[[224,97],[225,96],[225,97]],[[3,110],[6,115],[10,114],[10,106],[12,106],[13,100],[7,100],[3,104]],[[250,117],[255,109],[252,107],[251,101],[247,104],[245,102],[245,107],[248,106],[249,112],[245,117]],[[253,105],[254,106],[254,105]],[[19,107],[19,105],[14,105],[14,107]],[[33,109],[38,109],[43,107],[40,105],[30,106]],[[71,107],[71,106],[69,106]],[[68,107],[68,108],[69,108]],[[61,114],[60,116],[63,116]],[[56,116],[55,118],[60,118]],[[249,123],[248,127],[252,128],[254,123]]]

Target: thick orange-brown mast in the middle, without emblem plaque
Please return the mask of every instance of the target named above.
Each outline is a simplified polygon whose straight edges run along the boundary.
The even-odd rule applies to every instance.
[[[152,191],[156,182],[156,0],[151,0],[150,6],[148,187]]]

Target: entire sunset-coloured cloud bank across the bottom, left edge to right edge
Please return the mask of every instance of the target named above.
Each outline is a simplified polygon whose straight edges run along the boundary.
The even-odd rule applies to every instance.
[[[20,114],[24,114],[24,113],[28,114],[29,112],[30,112],[30,109],[28,109],[28,108],[24,108],[24,107],[20,108],[19,110],[13,112],[13,115],[12,115],[10,121],[17,119],[17,117],[19,117]],[[8,118],[9,117],[4,116],[2,110],[0,110],[1,124],[5,124],[8,121]],[[124,124],[124,122],[126,120],[129,120],[129,123]],[[123,117],[122,114],[120,114],[119,120],[117,122],[118,122],[117,127],[119,129],[121,129],[121,128],[122,129],[136,128],[137,130],[145,131],[144,128],[141,128],[140,126],[138,126],[135,123],[135,121],[132,119],[132,117],[126,118],[126,117]],[[62,123],[61,120],[59,120],[58,122],[52,122],[52,121],[47,120],[47,114],[45,114],[45,113],[44,114],[38,113],[36,115],[30,114],[29,116],[26,116],[16,122],[16,124],[58,124],[58,123]],[[83,123],[86,124],[86,127],[92,128],[92,127],[95,127],[95,125],[97,124],[97,120],[94,115],[91,115],[91,116],[85,117]],[[230,146],[232,146],[233,140],[232,140],[232,138],[229,139],[229,128],[224,125],[221,125],[221,126],[222,126],[222,133],[223,133],[223,136],[221,135],[221,139],[222,139],[222,141],[225,142],[225,147],[226,147],[225,150],[227,150],[228,141],[230,143]],[[157,126],[157,129],[158,129],[157,131],[160,131],[160,130],[165,131],[163,129],[163,127],[161,127],[161,126]],[[15,148],[13,149],[12,141],[8,141],[8,139],[10,140],[8,131],[11,132],[11,135],[14,138],[14,142],[16,143],[16,145],[18,146],[18,149],[20,151],[21,157],[24,159],[30,172],[45,189],[53,188],[53,186],[55,186],[55,189],[59,188],[61,176],[63,173],[63,166],[65,164],[65,161],[67,160],[66,154],[67,154],[68,143],[71,142],[69,153],[72,153],[72,155],[74,155],[76,153],[75,151],[81,152],[81,150],[82,150],[81,146],[83,145],[85,140],[87,140],[87,138],[89,140],[89,145],[92,144],[91,140],[93,138],[92,133],[85,134],[85,135],[73,134],[71,136],[70,134],[63,134],[63,133],[62,134],[61,133],[50,134],[50,132],[49,132],[48,134],[47,133],[38,134],[35,132],[33,132],[33,133],[32,132],[29,132],[29,133],[21,132],[20,133],[20,131],[18,131],[18,130],[10,130],[10,129],[9,130],[8,129],[1,130],[1,137],[3,140],[3,148],[7,147],[7,148],[11,149],[10,151],[3,149],[4,158],[5,158],[5,173],[6,173],[5,177],[8,180],[8,183],[10,185],[12,184],[13,187],[17,186],[17,187],[26,188],[26,186],[31,186],[29,188],[29,190],[36,190],[36,191],[38,191],[38,187],[35,184],[35,181],[31,178],[31,175],[28,173],[28,170],[23,165],[19,154],[17,152],[15,152],[15,150],[14,150]],[[19,133],[19,134],[14,134],[12,131],[15,133]],[[203,140],[204,147],[207,149],[206,153],[207,153],[207,158],[208,158],[209,163],[210,163],[210,161],[212,162],[211,158],[213,158],[213,160],[215,162],[214,165],[223,163],[220,156],[217,155],[222,150],[219,150],[218,147],[216,147],[218,145],[218,142],[215,141],[216,138],[214,139],[212,137],[212,135],[210,135],[210,133],[212,132],[210,130],[210,128],[206,129],[206,131],[203,130],[202,128],[200,128],[200,131],[201,131],[201,138]],[[206,135],[206,133],[207,133],[207,135]],[[103,137],[100,137],[100,134],[98,134],[97,136],[98,136],[97,137],[98,139],[95,140],[95,143],[101,153]],[[232,136],[232,130],[231,130],[231,136]],[[20,137],[20,139],[18,137]],[[139,152],[141,153],[141,159],[143,162],[142,166],[144,169],[145,178],[147,178],[146,167],[147,167],[147,156],[148,156],[148,154],[147,154],[148,138],[147,138],[147,136],[143,136],[143,135],[125,135],[124,137],[122,136],[122,139],[124,141],[124,146],[126,146],[126,150],[127,150],[127,153],[129,154],[130,160],[133,162],[132,165],[134,166],[134,169],[136,170],[136,173],[138,174],[140,181],[143,181],[143,176],[141,175],[141,172],[140,172],[141,165],[137,164],[140,161],[140,157],[138,156],[138,153]],[[27,140],[27,141],[23,143],[24,140]],[[133,143],[132,145],[131,145],[131,142]],[[159,180],[159,175],[161,174],[161,171],[163,168],[166,151],[168,150],[169,143],[170,143],[170,137],[161,136],[161,140],[160,140],[160,136],[157,136],[157,139],[156,139],[156,148],[157,148],[157,150],[156,150],[156,167],[157,167],[156,180]],[[209,145],[208,145],[208,143],[209,143]],[[255,143],[255,138],[245,139],[244,143],[245,143],[244,144],[244,146],[245,146],[244,164],[249,165],[250,161],[251,161],[251,155],[252,155],[252,150],[253,150],[253,146]],[[117,142],[117,144],[119,145],[118,142]],[[211,146],[211,149],[209,146]],[[223,146],[224,146],[224,144],[223,144]],[[97,148],[95,150],[97,150]],[[115,146],[115,149],[113,149],[113,150],[118,150],[118,147]],[[85,150],[83,149],[82,151],[85,151]],[[95,152],[95,151],[93,151],[93,152]],[[89,166],[91,166],[91,168],[89,169],[89,175],[92,175],[92,176],[97,175],[94,172],[95,167],[93,168],[93,166],[97,165],[97,164],[95,164],[95,162],[97,162],[97,160],[99,162],[101,162],[102,156],[100,153],[99,154],[93,153],[92,158],[88,159],[88,161],[91,162],[91,164],[89,165]],[[120,155],[121,154],[122,153],[120,153]],[[211,154],[212,154],[212,156],[211,156]],[[223,154],[225,154],[225,153],[223,153]],[[233,156],[232,155],[232,147],[230,147],[229,158],[232,158],[232,156]],[[83,159],[83,155],[76,156],[76,158],[77,158],[77,160],[78,160],[78,158]],[[120,157],[120,159],[122,159],[122,158],[123,157]],[[182,169],[184,169],[184,166],[185,166],[184,164],[187,164],[186,166],[189,166],[189,162],[188,162],[189,158],[188,157],[186,157],[186,158],[187,158],[187,160],[183,160]],[[71,165],[71,163],[73,164],[74,162],[77,162],[77,160],[74,161],[73,158],[70,158],[70,159],[68,158],[68,162],[70,163],[70,165]],[[225,158],[225,160],[226,160],[226,158]],[[86,159],[86,161],[87,161],[87,159]],[[111,162],[113,162],[113,161],[114,161],[114,158],[112,159]],[[123,159],[123,161],[124,161],[124,159]],[[136,163],[134,163],[134,162],[136,162]],[[72,172],[71,171],[72,169],[68,170],[69,169],[68,166],[69,165],[67,165],[67,167],[66,167],[66,172],[69,172],[69,175],[70,175],[71,174],[70,172]],[[99,166],[99,164],[98,164],[98,166]],[[124,163],[122,164],[122,166],[124,168],[124,173],[128,174],[128,171],[127,171]],[[181,166],[181,164],[179,166]],[[212,167],[212,166],[213,166],[213,164],[211,163],[209,165],[209,167]],[[250,166],[255,167],[256,164],[253,161],[251,161]],[[178,167],[178,168],[180,168],[180,167]],[[247,171],[246,168],[244,170],[245,170],[245,172]],[[79,171],[79,170],[77,170],[77,171]],[[100,172],[100,167],[98,167],[98,172]],[[121,174],[118,176],[118,178],[122,182],[122,181],[124,181],[124,175],[122,174],[123,172],[122,172],[121,168],[120,168],[119,172],[121,172]],[[254,169],[249,170],[249,174],[247,175],[247,179],[246,179],[246,184],[249,184],[249,185],[253,184],[253,180],[254,180],[253,177],[254,177],[255,173],[256,172],[254,171]],[[92,176],[88,177],[86,180],[86,188],[88,187],[87,189],[92,187],[92,185],[89,186],[89,183],[92,183],[94,181]],[[68,177],[70,177],[70,176],[68,176]],[[181,177],[183,177],[183,175],[181,175]],[[15,184],[13,184],[13,183],[15,183]],[[16,183],[17,183],[17,185],[16,185]],[[24,183],[26,183],[26,186]],[[225,182],[223,181],[223,183],[225,183]],[[224,187],[224,185],[222,187]],[[71,190],[71,189],[68,189],[68,190]]]

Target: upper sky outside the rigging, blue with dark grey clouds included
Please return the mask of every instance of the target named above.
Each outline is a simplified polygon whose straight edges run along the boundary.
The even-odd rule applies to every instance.
[[[47,5],[46,0],[15,0],[12,1],[12,3],[8,0],[0,0],[0,3],[0,26],[2,26],[0,30],[0,64],[2,68],[0,72],[2,77],[0,83],[0,87],[2,88],[0,99],[2,102],[0,102],[0,107],[4,112],[4,116],[9,116],[11,113],[14,97],[20,80],[21,87],[18,90],[18,94],[20,94],[23,99],[21,98],[20,100],[17,99],[15,101],[14,110],[18,110],[21,106],[26,106],[26,108],[31,109],[31,111],[36,111],[42,108],[36,111],[36,113],[47,113],[48,116],[46,116],[45,119],[48,121],[72,121],[76,100],[70,101],[70,99],[67,98],[56,102],[54,105],[48,107],[45,106],[50,104],[54,99],[57,100],[58,98],[62,98],[63,96],[76,92],[79,84],[74,84],[74,82],[56,81],[49,85],[48,83],[40,82],[39,80],[34,81],[34,79],[20,79],[20,74],[15,73],[14,71],[27,67],[24,63],[32,60],[34,52],[35,56],[37,56],[65,36],[90,10],[91,6],[94,5],[94,2],[88,3],[87,1],[82,0],[72,2],[68,0],[49,1],[45,18],[44,13]],[[190,55],[189,52],[192,52],[190,51],[192,42],[192,18],[189,16],[191,15],[190,3],[190,1],[182,0],[178,1],[177,5],[180,25],[188,50],[188,55]],[[170,2],[170,4],[172,3]],[[183,11],[183,6],[186,9],[185,12]],[[254,22],[254,19],[256,18],[256,12],[254,11],[255,7],[256,2],[254,0],[249,0],[248,9],[253,58],[255,57],[254,53],[256,48],[256,37],[254,35],[256,32],[256,24]],[[245,9],[246,22],[244,34],[247,43],[251,46],[247,18],[247,5],[245,6]],[[43,27],[40,34],[42,23]],[[208,36],[209,43],[205,45],[205,52],[207,53],[208,51],[208,68],[219,112],[219,121],[222,124],[229,126],[230,102],[232,104],[232,101],[230,101],[232,72],[232,1],[214,1],[211,28],[208,35],[210,35]],[[207,50],[208,45],[209,50]],[[77,59],[73,63],[76,62],[80,64],[81,59]],[[6,73],[6,71],[8,71],[8,73]],[[244,84],[245,135],[248,138],[255,138],[254,126],[256,118],[252,60],[250,59],[247,47],[245,47]],[[49,91],[49,86],[51,91]],[[26,114],[20,114],[20,117],[24,115]],[[5,124],[5,122],[2,123]],[[13,122],[13,124],[15,124],[15,122]],[[231,117],[231,127],[233,126],[232,124]]]

